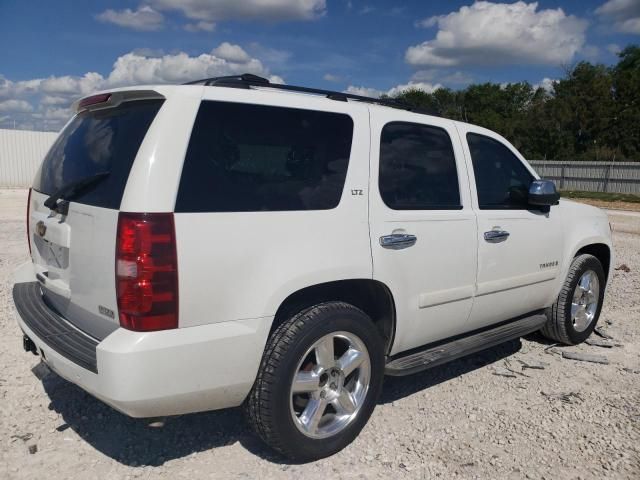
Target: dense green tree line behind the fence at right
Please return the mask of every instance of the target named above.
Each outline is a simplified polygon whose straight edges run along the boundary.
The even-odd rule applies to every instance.
[[[549,90],[527,82],[407,90],[399,101],[494,130],[531,160],[640,161],[640,47],[580,62]]]

